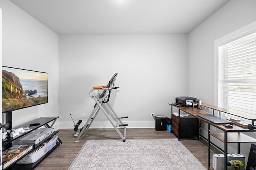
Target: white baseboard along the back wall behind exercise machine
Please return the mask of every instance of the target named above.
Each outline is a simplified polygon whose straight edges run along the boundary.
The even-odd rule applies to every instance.
[[[85,121],[79,125],[79,129],[85,125]],[[154,128],[155,121],[124,121],[123,123],[128,123],[127,128]],[[59,122],[59,129],[73,129],[74,123],[72,121]],[[109,121],[94,121],[90,128],[113,128]]]

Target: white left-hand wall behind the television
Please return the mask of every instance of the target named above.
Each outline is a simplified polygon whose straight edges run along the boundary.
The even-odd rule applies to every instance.
[[[48,104],[12,111],[12,126],[58,115],[58,35],[8,0],[2,8],[2,65],[49,73]]]

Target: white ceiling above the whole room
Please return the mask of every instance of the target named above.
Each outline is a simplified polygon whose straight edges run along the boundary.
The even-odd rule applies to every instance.
[[[229,0],[10,0],[59,35],[189,33]]]

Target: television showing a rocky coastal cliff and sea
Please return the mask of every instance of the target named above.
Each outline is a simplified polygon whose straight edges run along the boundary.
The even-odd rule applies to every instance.
[[[48,102],[48,73],[2,66],[2,113]]]

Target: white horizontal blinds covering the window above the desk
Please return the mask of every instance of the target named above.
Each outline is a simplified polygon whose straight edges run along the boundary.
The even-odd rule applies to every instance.
[[[256,115],[256,33],[218,47],[220,107]]]

